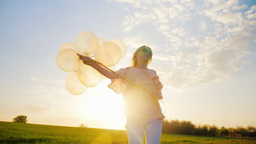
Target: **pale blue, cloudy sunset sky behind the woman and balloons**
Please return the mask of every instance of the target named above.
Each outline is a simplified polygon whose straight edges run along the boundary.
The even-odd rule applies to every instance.
[[[0,2],[0,121],[124,129],[122,95],[103,79],[81,95],[66,89],[59,48],[84,31],[122,40],[131,65],[137,47],[164,85],[167,119],[217,127],[256,127],[256,5],[253,0]]]

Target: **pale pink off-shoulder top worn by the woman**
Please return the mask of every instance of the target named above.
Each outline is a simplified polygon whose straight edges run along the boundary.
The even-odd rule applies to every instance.
[[[121,77],[113,79],[108,85],[117,94],[123,92],[126,117],[137,119],[165,118],[159,105],[159,99],[163,98],[161,93],[163,86],[155,70],[127,67],[115,72],[136,85],[134,86]],[[146,88],[149,92],[137,86]],[[153,92],[158,94],[153,96]]]

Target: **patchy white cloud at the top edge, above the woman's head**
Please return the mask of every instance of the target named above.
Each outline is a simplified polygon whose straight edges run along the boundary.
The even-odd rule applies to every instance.
[[[191,20],[191,14],[188,12],[188,9],[190,7],[191,9],[191,3],[193,1],[182,1],[182,3],[189,3],[187,7],[184,7],[182,4],[178,4],[178,2],[175,4],[170,5],[170,7],[167,7],[164,3],[170,2],[170,1],[157,1],[158,4],[151,4],[151,2],[145,2],[145,1],[117,1],[117,2],[127,2],[135,5],[141,5],[140,8],[137,9],[137,11],[133,12],[132,15],[126,15],[124,17],[124,31],[130,31],[134,26],[141,25],[143,22],[147,21],[153,21],[155,25],[162,25],[162,24],[168,24],[170,23],[170,18],[174,19],[175,17],[178,18],[179,21],[185,22],[188,20]],[[173,1],[174,2],[174,1]],[[152,2],[153,3],[153,2]],[[194,3],[193,3],[194,4]],[[135,7],[135,5],[133,5]],[[143,6],[142,6],[143,5]],[[142,7],[145,7],[143,9]]]

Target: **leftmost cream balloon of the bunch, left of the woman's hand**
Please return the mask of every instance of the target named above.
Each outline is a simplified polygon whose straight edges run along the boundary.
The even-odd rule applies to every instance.
[[[74,71],[78,67],[79,57],[73,49],[65,49],[57,55],[56,61],[61,70]]]

